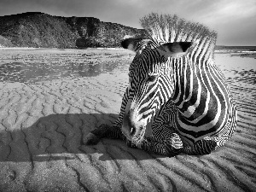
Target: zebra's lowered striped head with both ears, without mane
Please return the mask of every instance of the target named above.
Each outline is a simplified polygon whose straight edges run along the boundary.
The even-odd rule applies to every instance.
[[[151,119],[172,97],[175,61],[185,57],[194,46],[191,42],[157,44],[143,38],[127,38],[121,44],[137,53],[129,68],[122,132],[133,143],[139,143]]]

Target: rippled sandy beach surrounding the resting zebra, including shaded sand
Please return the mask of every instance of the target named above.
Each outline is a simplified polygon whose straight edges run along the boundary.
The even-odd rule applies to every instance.
[[[119,140],[81,144],[89,131],[118,117],[131,52],[0,49],[0,67],[36,63],[42,56],[47,63],[52,55],[60,65],[90,57],[94,62],[114,60],[120,67],[101,68],[93,77],[74,73],[0,83],[0,191],[255,191],[255,59],[215,55],[238,106],[238,126],[230,141],[212,154],[168,158]]]

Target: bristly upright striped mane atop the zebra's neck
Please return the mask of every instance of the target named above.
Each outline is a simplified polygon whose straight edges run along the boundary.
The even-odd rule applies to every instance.
[[[217,32],[207,26],[178,18],[177,15],[151,13],[140,19],[143,28],[157,44],[172,42],[197,42],[195,55],[212,57],[216,45]]]

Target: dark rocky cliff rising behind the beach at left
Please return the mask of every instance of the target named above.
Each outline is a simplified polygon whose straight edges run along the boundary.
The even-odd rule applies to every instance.
[[[145,34],[143,29],[93,17],[60,17],[39,12],[0,16],[0,47],[119,47],[125,35]]]

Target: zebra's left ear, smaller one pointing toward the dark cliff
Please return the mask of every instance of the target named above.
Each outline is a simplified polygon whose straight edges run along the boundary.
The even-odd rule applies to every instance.
[[[121,42],[121,45],[124,49],[129,49],[136,53],[140,53],[148,45],[149,41],[149,39],[145,38],[125,38]]]

